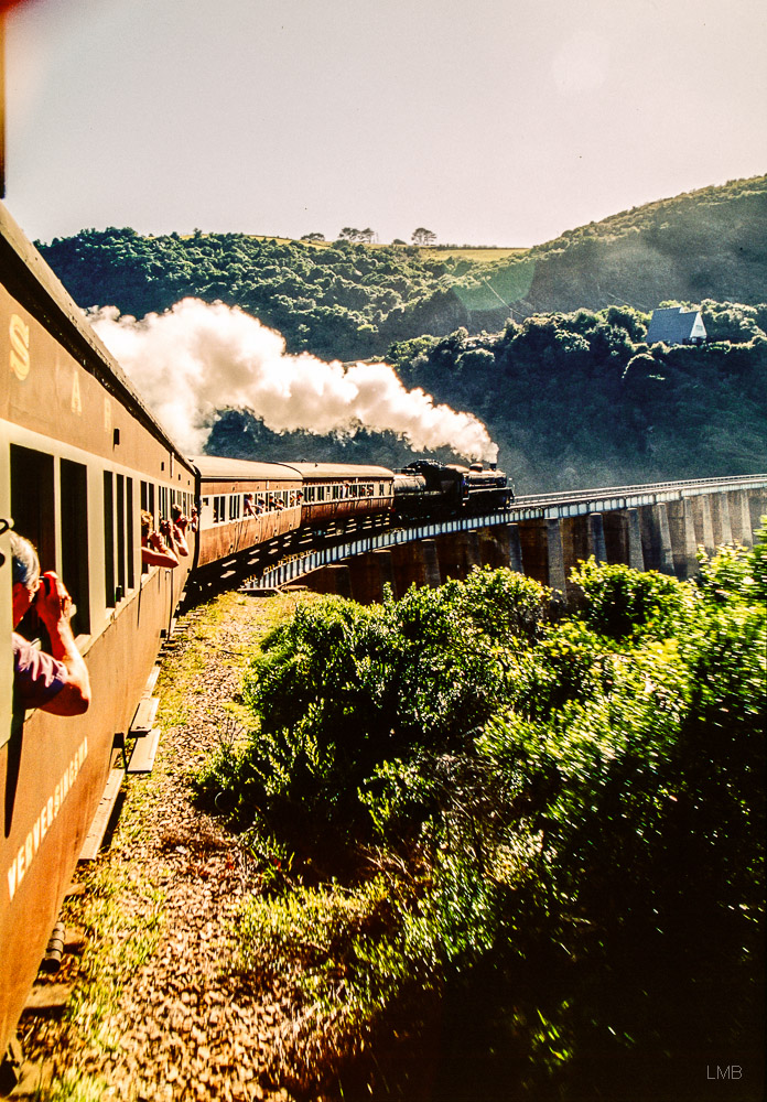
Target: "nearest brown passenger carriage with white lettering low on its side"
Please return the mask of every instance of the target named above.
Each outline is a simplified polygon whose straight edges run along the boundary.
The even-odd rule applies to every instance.
[[[0,206],[0,1052],[195,553],[142,570],[140,510],[188,511],[195,471]],[[12,714],[10,526],[73,595],[93,703]],[[28,628],[28,634],[29,634]]]

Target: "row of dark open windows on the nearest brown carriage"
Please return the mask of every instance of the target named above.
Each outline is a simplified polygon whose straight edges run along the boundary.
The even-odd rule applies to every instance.
[[[13,527],[37,548],[42,570],[58,562],[62,580],[75,605],[75,635],[90,631],[90,553],[88,469],[72,460],[11,444],[11,516]],[[136,587],[141,570],[138,554],[137,505],[152,515],[155,527],[177,505],[190,515],[194,498],[185,490],[151,482],[138,487],[129,475],[105,471],[101,475],[104,516],[104,595],[115,608]],[[56,495],[61,517],[61,557],[56,555]]]

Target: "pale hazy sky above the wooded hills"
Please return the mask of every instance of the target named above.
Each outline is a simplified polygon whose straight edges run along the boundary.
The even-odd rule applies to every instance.
[[[7,205],[84,227],[533,245],[767,171],[765,0],[32,0]]]

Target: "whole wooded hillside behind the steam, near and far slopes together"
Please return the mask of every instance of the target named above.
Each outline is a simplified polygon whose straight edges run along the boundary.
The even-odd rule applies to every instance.
[[[759,176],[490,262],[452,247],[114,228],[41,250],[83,306],[141,317],[187,295],[220,300],[280,329],[290,352],[386,357],[409,387],[482,418],[517,488],[532,491],[765,468],[766,215]],[[702,305],[710,343],[648,348],[662,302]],[[238,410],[222,411],[208,450],[411,457],[392,435],[278,436]]]

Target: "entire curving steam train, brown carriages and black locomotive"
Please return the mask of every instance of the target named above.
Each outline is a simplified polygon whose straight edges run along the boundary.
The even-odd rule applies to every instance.
[[[1,1060],[187,583],[292,533],[503,507],[510,490],[476,466],[191,460],[2,205],[0,358]],[[140,510],[159,527],[174,506],[198,509],[188,557],[143,565]],[[84,715],[14,714],[11,528],[72,594],[93,690]]]

